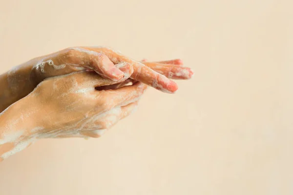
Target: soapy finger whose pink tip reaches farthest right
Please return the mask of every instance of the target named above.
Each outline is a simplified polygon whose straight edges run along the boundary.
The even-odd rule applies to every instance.
[[[144,64],[167,78],[189,79],[193,75],[193,71],[188,67],[156,62],[144,62]]]

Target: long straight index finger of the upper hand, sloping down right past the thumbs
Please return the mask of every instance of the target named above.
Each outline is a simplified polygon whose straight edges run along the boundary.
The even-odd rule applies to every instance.
[[[174,81],[168,79],[164,75],[161,75],[153,71],[152,69],[150,69],[149,67],[145,66],[144,64],[138,61],[127,58],[126,56],[122,55],[120,52],[114,51],[111,48],[106,48],[106,47],[82,47],[82,48],[93,50],[99,53],[104,53],[114,63],[115,62],[118,63],[121,61],[126,61],[130,63],[133,66],[133,74],[131,75],[130,78],[139,80],[162,92],[174,93],[178,89],[178,86]]]

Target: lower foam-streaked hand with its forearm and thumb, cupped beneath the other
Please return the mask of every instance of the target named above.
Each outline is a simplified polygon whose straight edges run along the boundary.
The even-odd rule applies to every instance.
[[[118,63],[118,67],[124,72],[121,81],[133,72],[129,63]],[[45,79],[32,93],[1,113],[0,119],[6,125],[0,127],[0,160],[38,138],[100,137],[131,114],[147,88],[136,82],[116,90],[96,89],[117,83],[89,71]]]

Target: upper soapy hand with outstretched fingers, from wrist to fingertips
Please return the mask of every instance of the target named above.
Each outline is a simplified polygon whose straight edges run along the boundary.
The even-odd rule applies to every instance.
[[[143,63],[146,65],[144,65],[108,47],[67,48],[38,59],[34,65],[34,72],[38,82],[44,78],[82,70],[92,70],[104,78],[119,80],[123,77],[123,73],[115,64],[123,61],[133,66],[134,71],[130,78],[167,93],[174,93],[178,89],[177,84],[168,78],[188,79],[193,74],[189,68],[178,66],[176,63],[166,64],[172,61],[163,63],[145,61]]]

